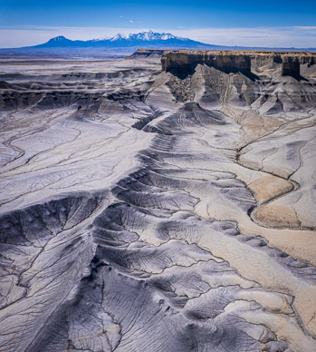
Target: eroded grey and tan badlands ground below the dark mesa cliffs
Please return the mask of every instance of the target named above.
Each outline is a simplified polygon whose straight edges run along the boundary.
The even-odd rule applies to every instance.
[[[0,66],[0,351],[316,350],[308,67]]]

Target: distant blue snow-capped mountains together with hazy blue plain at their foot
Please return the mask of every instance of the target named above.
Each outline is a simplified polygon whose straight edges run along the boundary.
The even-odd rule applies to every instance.
[[[155,33],[151,30],[138,34],[116,34],[111,38],[92,39],[88,41],[71,40],[56,36],[44,44],[21,48],[0,49],[0,54],[56,54],[79,56],[124,56],[133,53],[137,48],[148,49],[206,49],[206,50],[286,50],[316,51],[316,48],[263,48],[245,46],[224,46],[196,42],[169,33]]]

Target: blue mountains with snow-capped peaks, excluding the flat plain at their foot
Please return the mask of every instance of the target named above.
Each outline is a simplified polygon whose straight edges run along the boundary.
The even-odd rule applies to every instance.
[[[157,33],[151,30],[136,34],[116,34],[111,38],[92,39],[88,41],[72,41],[64,36],[57,36],[47,43],[34,46],[34,48],[68,48],[68,47],[104,47],[104,48],[196,48],[211,49],[215,45],[196,42],[188,38],[181,38],[170,33]]]

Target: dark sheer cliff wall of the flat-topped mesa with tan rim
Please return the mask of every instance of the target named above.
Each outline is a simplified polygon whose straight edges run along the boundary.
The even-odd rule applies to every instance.
[[[274,68],[282,65],[283,76],[299,76],[300,66],[311,66],[316,63],[313,53],[283,52],[211,52],[211,51],[165,51],[161,57],[162,70],[172,73],[193,73],[197,64],[206,64],[225,72],[251,73],[257,67],[271,65]]]

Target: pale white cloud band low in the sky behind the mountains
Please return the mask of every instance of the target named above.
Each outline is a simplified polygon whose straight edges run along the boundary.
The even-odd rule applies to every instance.
[[[174,34],[204,44],[248,47],[312,48],[316,43],[316,26],[255,26],[255,27],[199,27],[199,28],[129,28],[100,26],[0,26],[0,48],[18,48],[43,44],[64,36],[70,40],[89,41],[111,38],[116,34],[154,33]]]

